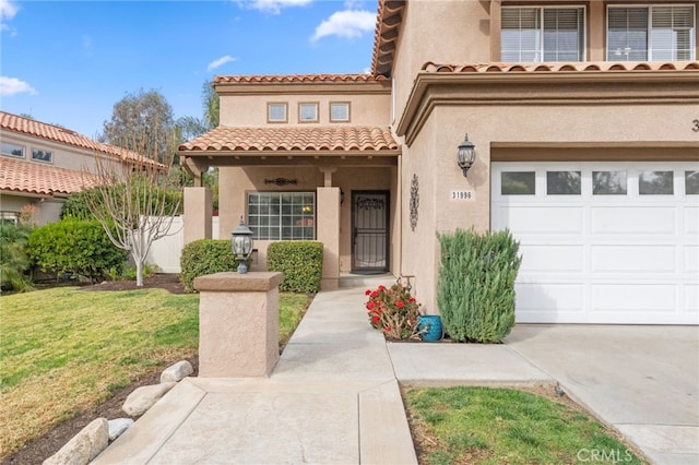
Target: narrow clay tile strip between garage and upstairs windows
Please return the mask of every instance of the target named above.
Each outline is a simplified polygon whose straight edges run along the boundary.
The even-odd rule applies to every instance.
[[[699,71],[697,61],[641,62],[599,61],[572,63],[434,63],[423,64],[428,73],[517,73],[570,71]]]

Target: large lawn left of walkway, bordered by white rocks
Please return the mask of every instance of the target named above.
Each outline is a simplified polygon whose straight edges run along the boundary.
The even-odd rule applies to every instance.
[[[280,344],[309,303],[280,295]],[[199,295],[58,287],[0,297],[0,458],[132,380],[197,355]]]

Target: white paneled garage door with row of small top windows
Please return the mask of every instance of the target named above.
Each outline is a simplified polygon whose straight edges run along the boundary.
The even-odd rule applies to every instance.
[[[699,324],[699,163],[493,163],[517,321]]]

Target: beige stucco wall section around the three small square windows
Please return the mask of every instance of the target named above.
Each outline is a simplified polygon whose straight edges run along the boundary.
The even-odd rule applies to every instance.
[[[388,127],[390,123],[390,87],[387,84],[381,94],[356,95],[345,92],[273,95],[222,95],[221,124],[232,127],[318,127],[318,126],[377,126]],[[330,122],[330,103],[350,102],[350,121]],[[268,123],[268,103],[286,103],[286,123]],[[318,122],[299,122],[298,104],[318,103]]]

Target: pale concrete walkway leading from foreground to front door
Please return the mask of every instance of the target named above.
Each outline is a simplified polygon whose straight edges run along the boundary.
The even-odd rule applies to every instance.
[[[318,294],[270,378],[182,380],[94,463],[417,463],[365,300]]]

